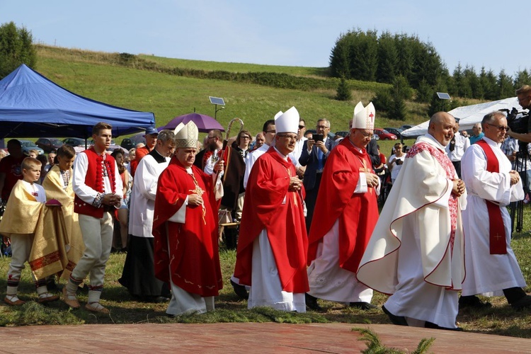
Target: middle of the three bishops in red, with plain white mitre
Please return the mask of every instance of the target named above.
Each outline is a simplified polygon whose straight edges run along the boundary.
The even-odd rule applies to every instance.
[[[251,285],[249,309],[306,312],[304,188],[287,156],[298,125],[295,107],[275,118],[275,146],[256,160],[247,183],[234,276]]]

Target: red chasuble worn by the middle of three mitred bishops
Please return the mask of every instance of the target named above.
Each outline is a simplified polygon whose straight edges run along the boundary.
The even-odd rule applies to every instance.
[[[249,175],[241,216],[234,276],[251,285],[253,241],[265,229],[275,256],[282,290],[307,292],[308,236],[302,193],[290,192],[290,176],[297,176],[292,161],[270,147],[256,160]],[[285,200],[285,204],[282,202]]]

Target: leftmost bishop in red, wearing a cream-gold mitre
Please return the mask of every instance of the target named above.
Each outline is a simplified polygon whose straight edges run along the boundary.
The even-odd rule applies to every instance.
[[[156,189],[155,276],[171,285],[170,315],[213,310],[222,289],[217,203],[212,176],[193,166],[197,139],[193,122],[176,127],[176,154]],[[215,169],[223,169],[222,162]]]

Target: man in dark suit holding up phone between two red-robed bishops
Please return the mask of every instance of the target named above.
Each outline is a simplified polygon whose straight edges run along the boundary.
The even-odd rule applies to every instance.
[[[332,139],[328,137],[330,132],[330,122],[325,118],[317,120],[316,134],[312,139],[304,142],[302,147],[302,154],[299,157],[299,164],[306,166],[304,172],[304,188],[306,189],[307,216],[306,229],[309,230],[312,224],[312,217],[314,215],[315,200],[317,199],[317,192],[321,184],[321,175],[323,173],[324,164],[328,158],[330,151],[334,145]],[[322,136],[322,139],[320,138]]]

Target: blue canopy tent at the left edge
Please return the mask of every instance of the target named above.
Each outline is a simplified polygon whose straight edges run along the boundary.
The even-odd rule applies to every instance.
[[[97,122],[108,122],[118,137],[154,127],[155,116],[76,95],[25,64],[0,81],[0,139],[87,139]]]

